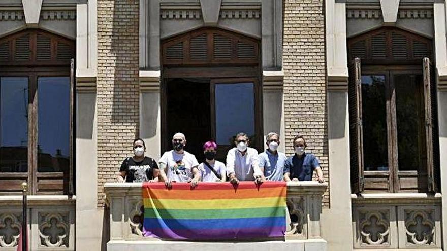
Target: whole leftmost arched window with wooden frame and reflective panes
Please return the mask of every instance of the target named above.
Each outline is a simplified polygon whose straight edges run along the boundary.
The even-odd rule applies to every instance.
[[[0,194],[73,192],[74,55],[39,29],[0,38]]]

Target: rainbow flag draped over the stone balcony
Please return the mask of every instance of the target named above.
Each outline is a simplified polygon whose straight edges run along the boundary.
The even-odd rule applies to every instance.
[[[243,240],[284,237],[285,182],[144,183],[145,236]]]

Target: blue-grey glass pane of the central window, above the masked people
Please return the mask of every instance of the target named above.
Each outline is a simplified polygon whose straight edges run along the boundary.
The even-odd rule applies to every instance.
[[[254,136],[254,84],[216,84],[216,142],[232,145],[238,132]]]

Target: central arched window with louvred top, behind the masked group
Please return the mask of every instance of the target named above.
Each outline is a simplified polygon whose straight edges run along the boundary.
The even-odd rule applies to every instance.
[[[215,140],[217,159],[245,132],[261,150],[260,41],[219,29],[200,28],[162,41],[162,141],[185,133],[186,150],[204,160],[202,145]]]

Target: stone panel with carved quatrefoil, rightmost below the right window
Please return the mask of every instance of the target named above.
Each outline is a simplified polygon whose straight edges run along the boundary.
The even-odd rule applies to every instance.
[[[441,247],[439,208],[435,206],[405,206],[398,208],[399,247]]]

